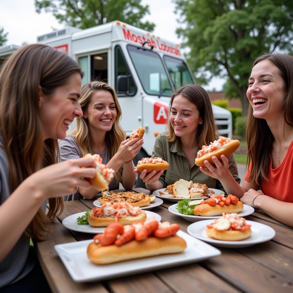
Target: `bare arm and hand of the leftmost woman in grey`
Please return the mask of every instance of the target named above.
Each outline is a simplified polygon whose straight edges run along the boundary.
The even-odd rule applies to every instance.
[[[81,167],[93,165],[91,158],[54,164],[32,174],[16,188],[0,206],[0,222],[5,223],[0,225],[0,262],[23,234],[44,200],[74,193],[78,185],[90,186],[82,178],[93,178],[96,170]]]

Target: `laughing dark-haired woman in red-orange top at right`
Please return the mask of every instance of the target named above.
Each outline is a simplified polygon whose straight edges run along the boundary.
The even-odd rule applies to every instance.
[[[247,120],[249,168],[239,186],[228,160],[215,156],[201,171],[229,185],[241,201],[293,226],[293,57],[265,54],[253,63],[248,79]]]

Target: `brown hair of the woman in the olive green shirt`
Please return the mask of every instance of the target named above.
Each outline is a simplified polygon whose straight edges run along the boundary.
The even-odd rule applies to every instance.
[[[203,145],[209,145],[210,142],[213,142],[217,137],[217,127],[207,92],[201,86],[195,84],[182,86],[172,94],[169,109],[172,107],[174,98],[180,94],[195,104],[202,118],[202,124],[198,125],[196,134],[199,149]],[[167,139],[169,142],[174,142],[176,138],[176,134],[169,119],[167,125]]]

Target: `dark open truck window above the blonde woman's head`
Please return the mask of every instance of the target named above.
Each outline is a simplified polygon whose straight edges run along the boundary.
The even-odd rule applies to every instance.
[[[108,82],[108,53],[91,55],[91,81]]]

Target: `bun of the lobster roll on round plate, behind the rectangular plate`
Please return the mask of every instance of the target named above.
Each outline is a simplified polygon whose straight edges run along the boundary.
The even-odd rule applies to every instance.
[[[147,219],[147,214],[145,211],[140,211],[137,216],[128,216],[123,218],[118,218],[117,221],[115,218],[110,217],[95,217],[93,212],[88,213],[88,224],[93,227],[105,227],[111,223],[118,222],[122,225],[128,225],[135,222],[144,222]]]

